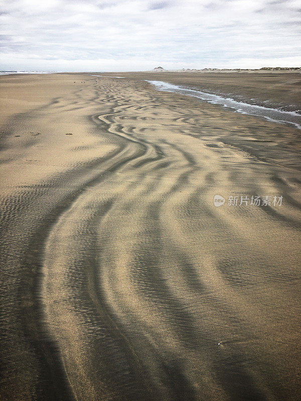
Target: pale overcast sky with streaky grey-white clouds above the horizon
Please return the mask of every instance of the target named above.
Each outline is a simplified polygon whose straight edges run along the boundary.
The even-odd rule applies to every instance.
[[[0,69],[301,66],[300,0],[0,0]]]

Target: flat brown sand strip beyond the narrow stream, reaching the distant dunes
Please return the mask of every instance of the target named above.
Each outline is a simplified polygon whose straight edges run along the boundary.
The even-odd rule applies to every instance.
[[[264,107],[301,110],[301,74],[294,71],[136,72],[104,73],[122,77],[165,81],[237,101]]]

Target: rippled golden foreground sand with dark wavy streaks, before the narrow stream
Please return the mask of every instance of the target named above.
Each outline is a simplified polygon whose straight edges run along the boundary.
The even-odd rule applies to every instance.
[[[298,400],[300,130],[141,77],[0,77],[0,399]]]

